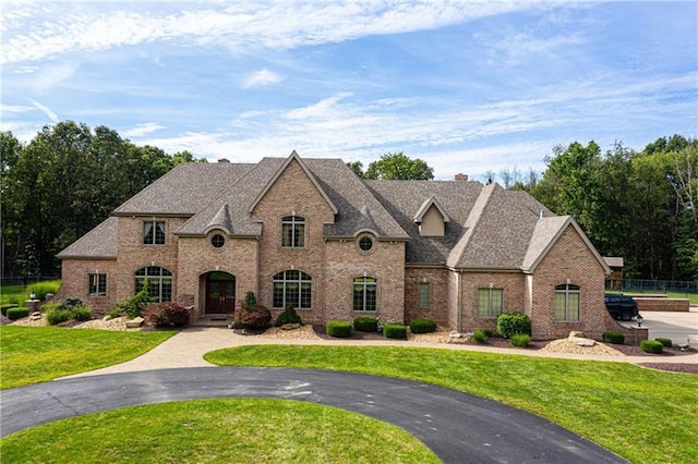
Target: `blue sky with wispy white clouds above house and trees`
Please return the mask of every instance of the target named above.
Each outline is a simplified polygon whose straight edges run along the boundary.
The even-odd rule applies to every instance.
[[[544,169],[558,144],[698,135],[698,3],[2,3],[0,130],[137,145]]]

